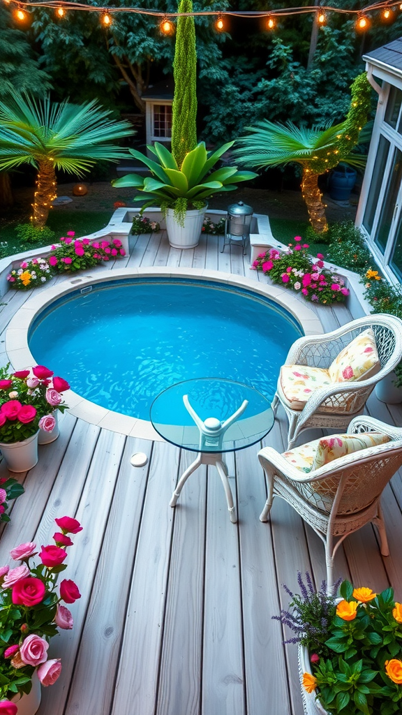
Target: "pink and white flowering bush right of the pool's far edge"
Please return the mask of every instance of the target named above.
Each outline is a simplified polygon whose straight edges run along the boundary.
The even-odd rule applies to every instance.
[[[344,302],[349,295],[344,280],[324,269],[321,253],[313,261],[307,252],[308,244],[302,244],[301,241],[300,236],[295,236],[295,243],[290,243],[285,252],[270,248],[260,253],[253,268],[262,270],[274,283],[300,292],[306,300],[323,305]]]

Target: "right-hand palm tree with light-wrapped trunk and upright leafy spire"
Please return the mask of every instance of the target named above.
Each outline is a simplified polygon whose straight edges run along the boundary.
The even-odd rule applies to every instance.
[[[247,127],[250,135],[238,139],[240,147],[233,152],[247,167],[278,167],[290,162],[300,164],[303,169],[303,199],[315,233],[328,230],[325,205],[318,188],[320,174],[333,169],[339,162],[358,168],[365,165],[365,157],[351,153],[371,109],[371,87],[365,73],[356,77],[351,94],[350,109],[341,124],[304,128],[297,127],[293,122],[274,124],[263,119],[255,127]]]

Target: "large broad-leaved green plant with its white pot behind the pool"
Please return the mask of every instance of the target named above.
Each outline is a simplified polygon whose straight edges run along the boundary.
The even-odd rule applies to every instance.
[[[254,172],[239,172],[237,167],[214,169],[217,161],[234,142],[224,144],[215,152],[207,152],[205,142],[188,152],[181,166],[173,154],[160,144],[147,148],[155,159],[145,157],[136,149],[129,149],[135,159],[146,164],[152,177],[127,174],[112,182],[115,187],[134,187],[142,192],[134,201],[147,201],[145,209],[156,201],[166,217],[167,235],[174,248],[194,248],[202,230],[207,199],[218,192],[235,191],[237,183],[253,179]]]

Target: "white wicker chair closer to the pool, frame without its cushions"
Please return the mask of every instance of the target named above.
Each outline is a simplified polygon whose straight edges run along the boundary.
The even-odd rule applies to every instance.
[[[340,350],[368,327],[373,329],[376,337],[381,363],[381,370],[376,375],[367,380],[332,383],[319,388],[313,392],[303,410],[292,409],[286,403],[278,380],[272,406],[275,413],[280,402],[288,415],[288,449],[292,448],[303,430],[314,427],[345,430],[351,418],[363,412],[366,400],[378,380],[385,378],[402,360],[402,320],[381,313],[367,315],[325,335],[300,337],[290,347],[285,365],[328,368]]]

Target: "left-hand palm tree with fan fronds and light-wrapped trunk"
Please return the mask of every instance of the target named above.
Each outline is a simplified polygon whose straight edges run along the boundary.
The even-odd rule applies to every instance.
[[[95,100],[57,104],[49,97],[10,92],[0,102],[0,171],[21,164],[37,169],[31,222],[44,227],[57,196],[56,169],[83,176],[99,160],[117,161],[127,149],[113,144],[133,134],[128,122],[114,122],[112,112]]]

